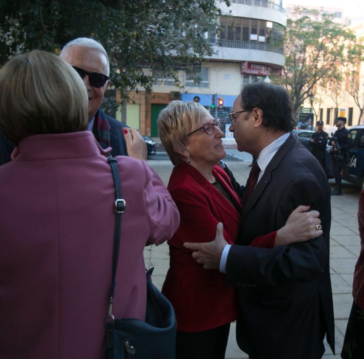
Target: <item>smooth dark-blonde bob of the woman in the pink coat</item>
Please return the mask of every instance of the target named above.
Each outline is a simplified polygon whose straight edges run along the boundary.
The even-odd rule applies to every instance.
[[[26,136],[77,132],[87,125],[86,87],[62,58],[34,50],[0,69],[0,132],[16,146]]]

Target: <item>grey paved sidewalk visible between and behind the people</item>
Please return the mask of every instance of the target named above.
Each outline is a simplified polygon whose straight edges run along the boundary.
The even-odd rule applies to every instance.
[[[250,162],[226,161],[238,182],[245,184],[249,175]],[[148,159],[148,164],[159,174],[167,185],[172,171],[170,161]],[[332,183],[332,180],[330,180]],[[343,194],[332,196],[332,222],[330,233],[330,269],[335,315],[335,350],[333,355],[326,345],[324,359],[340,357],[343,337],[352,305],[352,282],[354,266],[360,251],[360,240],[357,225],[359,189],[349,183],[343,184]],[[160,289],[169,267],[169,249],[167,244],[147,247],[144,257],[147,268],[155,267],[153,282]],[[309,345],[309,344],[308,344]],[[226,358],[241,359],[248,355],[242,352],[235,341],[235,323],[230,329]],[[268,358],[267,358],[268,359]],[[310,359],[310,358],[307,358]]]

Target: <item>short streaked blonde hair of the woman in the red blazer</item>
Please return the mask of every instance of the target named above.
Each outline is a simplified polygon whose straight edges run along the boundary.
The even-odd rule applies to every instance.
[[[174,166],[182,162],[176,149],[184,150],[187,134],[196,130],[206,115],[210,115],[209,111],[194,101],[172,101],[160,111],[157,122],[159,138]]]

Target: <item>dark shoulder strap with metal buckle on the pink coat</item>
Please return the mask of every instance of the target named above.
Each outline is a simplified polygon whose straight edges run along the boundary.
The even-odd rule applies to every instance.
[[[112,315],[112,303],[114,300],[114,291],[115,291],[115,277],[116,277],[116,269],[117,262],[119,257],[119,248],[120,248],[120,229],[122,227],[122,213],[125,211],[126,203],[122,198],[122,188],[120,186],[120,176],[119,170],[117,168],[116,158],[112,155],[108,156],[108,163],[111,166],[112,176],[114,179],[115,186],[115,202],[114,202],[114,210],[115,210],[115,228],[114,228],[114,244],[112,251],[112,277],[111,277],[111,286],[110,286],[110,294],[109,294],[109,311],[107,321],[114,321],[114,316]]]

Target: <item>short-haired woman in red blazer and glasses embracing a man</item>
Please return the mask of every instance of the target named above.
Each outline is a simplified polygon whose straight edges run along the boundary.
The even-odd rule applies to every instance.
[[[214,121],[203,106],[181,101],[161,111],[158,129],[175,165],[168,190],[180,213],[180,226],[168,241],[170,268],[162,289],[177,316],[176,358],[223,359],[230,323],[238,316],[235,290],[225,284],[225,274],[197,264],[183,244],[212,241],[218,222],[230,244],[237,237],[240,198],[229,176],[216,165],[226,155],[224,133],[219,120]],[[306,232],[304,218],[293,227]],[[279,235],[259,237],[252,245],[272,248],[282,239]]]

